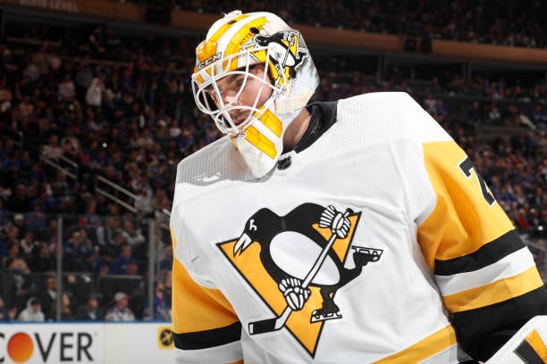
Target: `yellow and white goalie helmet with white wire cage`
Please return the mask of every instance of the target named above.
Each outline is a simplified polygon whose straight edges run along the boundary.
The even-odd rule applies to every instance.
[[[264,65],[263,73],[252,71],[257,64]],[[224,77],[233,79],[236,101],[223,99],[218,81]],[[260,85],[254,102],[237,102],[251,81]],[[196,48],[192,90],[198,109],[231,136],[257,178],[275,166],[285,130],[318,84],[316,66],[299,31],[271,12],[230,12],[215,21]]]

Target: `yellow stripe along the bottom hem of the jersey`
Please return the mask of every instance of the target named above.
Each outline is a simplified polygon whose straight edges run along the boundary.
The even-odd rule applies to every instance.
[[[374,364],[419,363],[438,352],[447,350],[457,342],[454,327],[449,325],[396,354],[374,361]]]

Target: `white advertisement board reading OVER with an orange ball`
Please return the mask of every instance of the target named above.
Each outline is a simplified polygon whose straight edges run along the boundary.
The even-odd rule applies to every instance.
[[[0,324],[0,363],[173,363],[166,323]]]

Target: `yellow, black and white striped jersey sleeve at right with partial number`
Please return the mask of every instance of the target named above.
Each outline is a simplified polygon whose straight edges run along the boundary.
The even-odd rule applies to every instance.
[[[486,360],[529,318],[545,314],[534,259],[466,153],[452,139],[423,143],[433,209],[417,227],[459,342]]]

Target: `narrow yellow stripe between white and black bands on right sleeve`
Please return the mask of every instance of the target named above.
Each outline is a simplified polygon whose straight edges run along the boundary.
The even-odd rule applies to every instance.
[[[503,278],[488,285],[467,289],[458,294],[444,296],[444,303],[450,312],[480,309],[509,297],[518,297],[543,286],[537,269],[531,267],[523,273]]]

